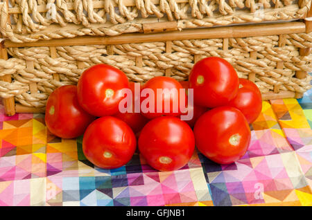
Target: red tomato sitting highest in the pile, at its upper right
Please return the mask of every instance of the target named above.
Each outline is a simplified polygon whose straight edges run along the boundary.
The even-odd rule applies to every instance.
[[[220,57],[198,61],[189,75],[194,104],[214,108],[226,105],[239,90],[239,77],[229,62]]]

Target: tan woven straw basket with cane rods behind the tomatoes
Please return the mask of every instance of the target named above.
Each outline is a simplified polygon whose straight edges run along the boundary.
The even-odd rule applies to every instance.
[[[300,98],[311,88],[312,21],[304,21],[311,0],[11,0],[0,7],[8,115],[44,112],[55,88],[76,84],[99,63],[143,83],[158,75],[187,80],[199,59],[218,56],[255,82],[263,100]]]

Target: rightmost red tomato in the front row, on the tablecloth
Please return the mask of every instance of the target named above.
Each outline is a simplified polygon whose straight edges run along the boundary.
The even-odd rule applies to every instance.
[[[234,107],[216,107],[198,118],[194,135],[198,150],[211,161],[229,164],[239,160],[250,144],[248,122]]]

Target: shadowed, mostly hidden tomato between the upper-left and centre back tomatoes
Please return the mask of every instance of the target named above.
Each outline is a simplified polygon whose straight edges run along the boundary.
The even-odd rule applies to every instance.
[[[141,113],[135,112],[135,83],[130,82],[129,86],[132,91],[132,112],[121,113],[119,111],[114,115],[114,117],[126,122],[136,134],[137,132],[141,131],[144,125],[146,125],[148,118],[142,116]],[[139,92],[141,93],[141,90]]]

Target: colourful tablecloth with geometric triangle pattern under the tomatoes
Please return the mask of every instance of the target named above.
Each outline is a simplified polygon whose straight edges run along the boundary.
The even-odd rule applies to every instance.
[[[157,172],[135,154],[119,169],[86,160],[82,140],[47,131],[44,115],[0,106],[0,205],[312,205],[312,90],[263,102],[248,152],[218,165],[197,151]]]

